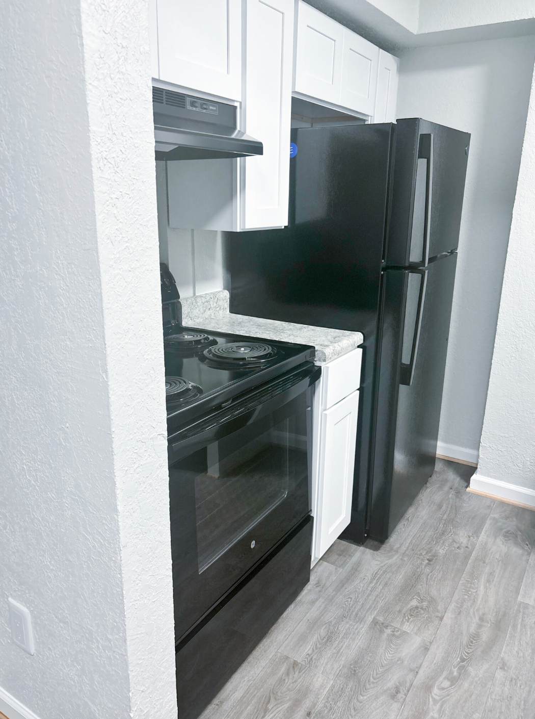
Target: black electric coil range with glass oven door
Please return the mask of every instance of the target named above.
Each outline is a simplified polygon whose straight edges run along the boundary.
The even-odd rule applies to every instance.
[[[310,580],[321,369],[314,347],[180,324],[164,357],[177,697],[196,719]]]

